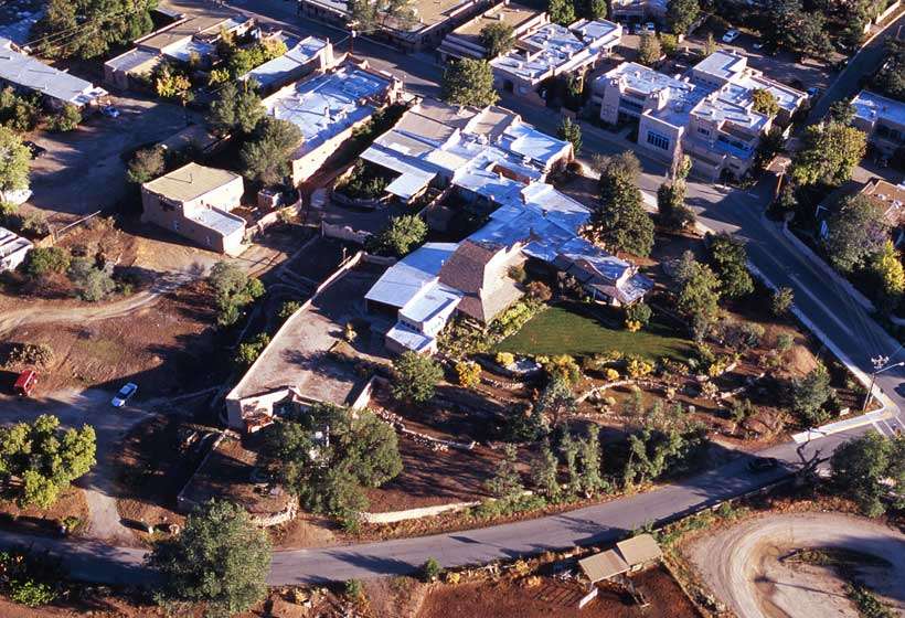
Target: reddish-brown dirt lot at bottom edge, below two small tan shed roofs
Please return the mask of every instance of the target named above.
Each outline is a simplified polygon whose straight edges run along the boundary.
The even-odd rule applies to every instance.
[[[576,582],[541,577],[534,586],[503,580],[496,584],[438,586],[424,601],[418,618],[692,618],[700,616],[682,589],[663,568],[645,571],[631,577],[650,605],[634,605],[618,589],[601,589],[596,600],[578,609],[586,589]]]

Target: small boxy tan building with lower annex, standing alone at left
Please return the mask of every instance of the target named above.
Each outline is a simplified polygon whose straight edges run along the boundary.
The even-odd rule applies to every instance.
[[[189,163],[141,185],[141,220],[204,248],[238,255],[246,248],[245,220],[231,211],[244,192],[239,174]]]

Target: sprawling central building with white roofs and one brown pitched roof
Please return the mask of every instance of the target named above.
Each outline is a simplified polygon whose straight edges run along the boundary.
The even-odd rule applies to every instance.
[[[590,213],[544,182],[572,159],[572,146],[511,111],[424,100],[362,159],[397,174],[386,192],[403,202],[433,185],[491,211],[461,243],[416,249],[368,292],[370,311],[396,320],[385,339],[392,351],[433,353],[456,313],[492,321],[521,296],[508,271],[525,259],[567,271],[593,298],[614,305],[636,302],[652,287],[635,266],[582,238]]]

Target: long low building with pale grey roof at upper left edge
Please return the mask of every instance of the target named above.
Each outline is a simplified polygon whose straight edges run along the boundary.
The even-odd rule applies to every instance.
[[[54,109],[65,105],[93,106],[107,96],[104,88],[33,58],[8,39],[0,39],[0,83],[36,93]]]

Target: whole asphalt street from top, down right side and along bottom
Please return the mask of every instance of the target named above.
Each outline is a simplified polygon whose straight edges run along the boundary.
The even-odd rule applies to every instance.
[[[167,3],[183,9],[199,4],[194,1]],[[233,6],[243,10],[254,7],[254,12],[266,13],[306,33],[328,35],[333,41],[342,36],[336,29],[297,18],[292,2],[246,0],[234,2]],[[435,82],[439,76],[439,70],[429,57],[401,54],[362,40],[355,43],[355,47],[356,53],[365,55],[375,67],[392,71],[403,77],[407,89],[427,96],[437,94]],[[850,65],[861,66],[859,71],[866,71],[871,66],[871,61],[870,57],[865,57],[862,65],[862,61],[856,57]],[[856,76],[852,75],[856,83]],[[843,86],[831,86],[821,105],[829,105],[830,98],[837,96],[832,93],[842,93],[847,89]],[[528,121],[534,122],[543,130],[550,131],[558,124],[558,116],[550,110],[510,100],[503,102],[503,105],[511,106]],[[615,136],[597,129],[585,131],[584,143],[586,154],[618,152],[626,148],[626,145]],[[656,192],[657,187],[663,181],[666,170],[662,164],[654,161],[642,159],[642,163],[645,173],[641,178],[641,188],[648,192]],[[764,209],[770,199],[766,185],[760,184],[752,190],[742,191],[691,182],[688,195],[690,203],[700,211],[704,224],[714,230],[735,232],[748,241],[749,257],[756,268],[773,285],[789,286],[795,290],[796,305],[801,313],[838,353],[850,360],[853,366],[862,372],[870,372],[871,356],[881,353],[888,355],[893,361],[905,360],[902,347],[832,279],[798,253],[782,236],[776,223],[764,217]],[[901,370],[890,371],[877,377],[877,385],[899,407],[905,403],[905,392],[901,387],[904,377],[905,372]],[[890,435],[895,424],[901,426],[902,419],[893,418],[891,423],[892,425],[877,424],[876,427]],[[826,456],[841,441],[864,430],[865,428],[861,427],[835,434],[808,443],[801,448],[806,457],[818,449]],[[435,556],[444,565],[461,565],[512,558],[576,544],[613,541],[646,523],[682,516],[725,498],[755,490],[788,473],[800,462],[795,444],[777,446],[764,455],[781,459],[787,464],[787,468],[753,475],[746,468],[746,458],[741,457],[732,464],[657,491],[558,515],[435,536],[276,552],[269,582],[278,585],[364,578],[411,572],[428,556]],[[0,532],[0,544],[23,542],[62,554],[75,577],[109,583],[146,584],[153,577],[151,572],[141,566],[142,552],[138,550]]]

